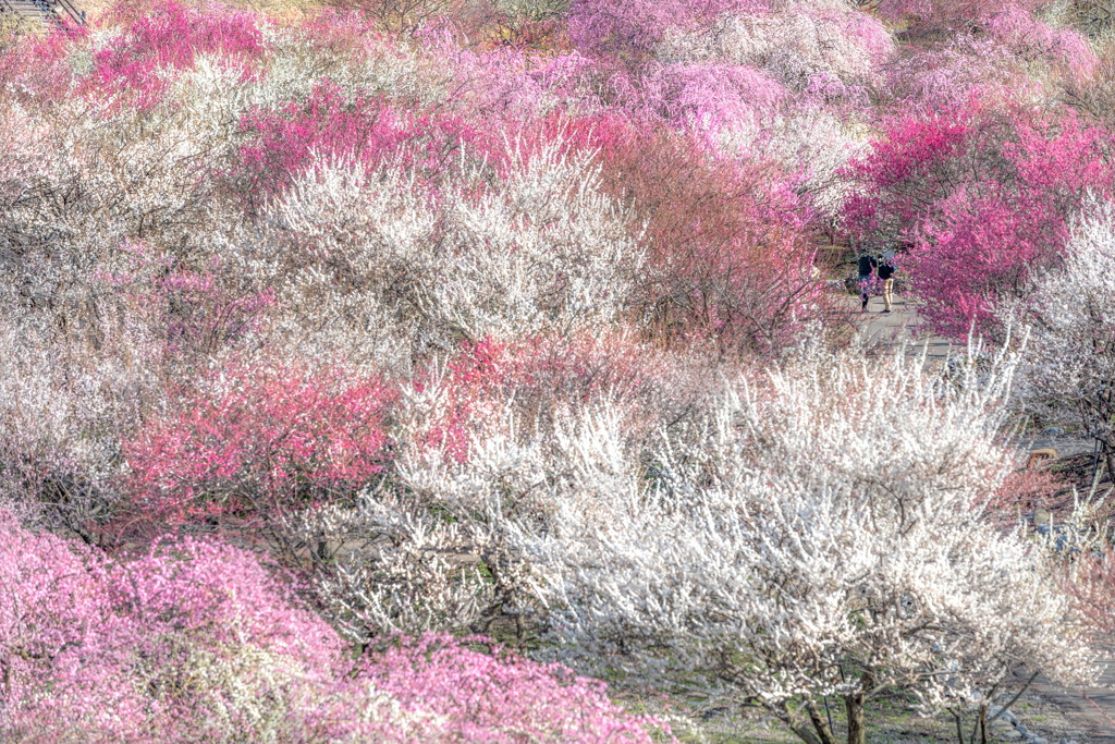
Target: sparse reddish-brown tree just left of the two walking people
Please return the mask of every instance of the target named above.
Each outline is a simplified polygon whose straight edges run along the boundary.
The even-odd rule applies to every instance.
[[[608,136],[602,125],[595,136]],[[639,289],[646,332],[721,354],[776,352],[826,313],[795,195],[774,166],[739,166],[660,128],[626,129],[601,152],[605,185],[644,222],[651,271]]]

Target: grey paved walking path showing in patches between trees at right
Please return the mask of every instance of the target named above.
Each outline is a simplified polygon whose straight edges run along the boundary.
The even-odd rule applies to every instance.
[[[859,302],[856,298],[850,298]],[[922,354],[930,363],[943,361],[950,350],[957,348],[946,338],[934,336],[918,315],[918,302],[906,297],[895,296],[890,313],[883,312],[881,297],[872,297],[867,303],[867,312],[862,313],[861,328],[869,340],[882,347],[896,347],[906,344],[910,354]],[[1043,436],[1019,443],[1026,450],[1054,447],[1061,457],[1093,451],[1092,439],[1080,439],[1065,436]],[[1036,692],[1046,699],[1064,709],[1069,717],[1088,732],[1087,740],[1078,740],[1079,744],[1115,744],[1115,647],[1104,649],[1101,665],[1106,665],[1098,687],[1086,689],[1065,689],[1053,683],[1039,679]],[[1034,733],[1040,735],[1041,724],[1027,724]],[[1011,741],[1001,737],[1001,741]],[[1014,741],[1020,741],[1017,735]]]

